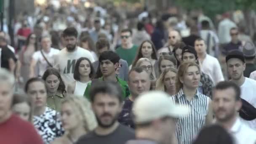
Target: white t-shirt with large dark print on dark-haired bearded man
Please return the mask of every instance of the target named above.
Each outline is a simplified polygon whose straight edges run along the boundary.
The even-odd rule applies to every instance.
[[[59,70],[66,85],[75,81],[73,77],[75,63],[77,59],[81,57],[88,58],[92,63],[94,62],[91,52],[80,47],[77,47],[77,50],[73,52],[69,52],[67,48],[63,48],[59,54],[56,55],[54,67]]]

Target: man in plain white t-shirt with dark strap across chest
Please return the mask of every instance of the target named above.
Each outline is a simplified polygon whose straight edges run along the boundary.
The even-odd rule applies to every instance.
[[[58,49],[51,48],[51,37],[45,35],[41,38],[42,49],[36,51],[32,56],[30,63],[29,77],[43,76],[48,67],[53,67],[54,56],[59,53]],[[39,72],[35,74],[35,68],[38,66]]]

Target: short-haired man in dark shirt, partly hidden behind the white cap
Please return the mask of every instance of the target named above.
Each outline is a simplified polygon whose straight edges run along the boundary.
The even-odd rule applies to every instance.
[[[131,95],[125,99],[123,110],[119,115],[118,121],[123,125],[127,125],[131,128],[135,128],[135,125],[131,116],[131,109],[133,101],[143,92],[150,89],[150,77],[149,74],[141,67],[131,69],[128,74],[128,86]]]

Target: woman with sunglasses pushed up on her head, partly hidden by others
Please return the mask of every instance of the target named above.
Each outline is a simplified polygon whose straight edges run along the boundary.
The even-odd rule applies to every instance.
[[[173,55],[170,54],[165,54],[165,55],[160,55],[159,60],[157,61],[158,67],[156,69],[156,74],[159,77],[161,73],[169,68],[169,67],[174,67],[177,68],[177,61]]]

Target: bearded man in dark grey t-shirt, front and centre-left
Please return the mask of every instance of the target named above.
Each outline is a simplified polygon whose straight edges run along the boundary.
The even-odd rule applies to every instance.
[[[101,81],[91,87],[92,109],[99,125],[76,144],[125,144],[135,138],[132,129],[117,121],[123,105],[122,95],[122,88],[112,81]]]

